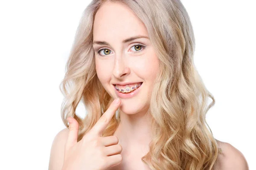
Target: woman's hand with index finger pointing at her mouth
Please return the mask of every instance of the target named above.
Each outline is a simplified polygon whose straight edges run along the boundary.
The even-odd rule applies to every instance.
[[[79,124],[69,117],[69,133],[64,151],[62,170],[106,170],[122,161],[122,146],[116,136],[101,137],[121,104],[115,99],[93,128],[77,142]]]

